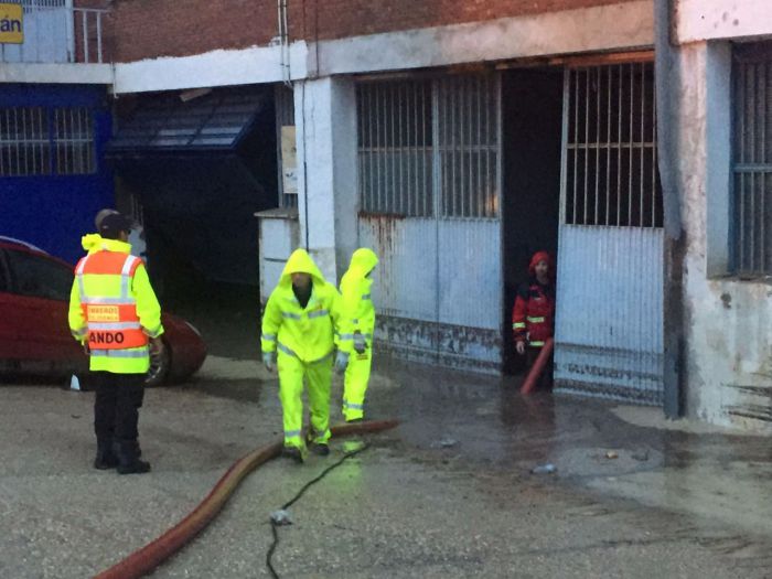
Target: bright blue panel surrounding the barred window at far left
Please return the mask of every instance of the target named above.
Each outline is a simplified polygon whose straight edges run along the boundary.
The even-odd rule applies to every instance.
[[[107,92],[94,86],[2,85],[2,107],[89,107],[94,114],[97,172],[89,175],[0,176],[0,235],[34,244],[69,262],[94,215],[115,205],[112,172],[105,163],[111,133]]]

